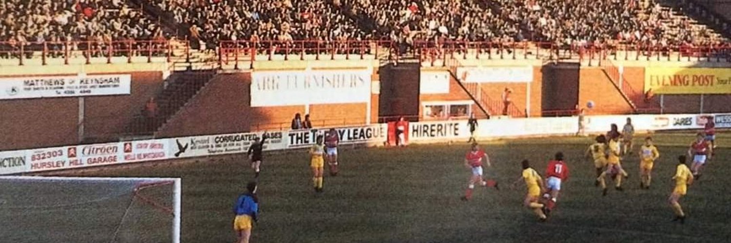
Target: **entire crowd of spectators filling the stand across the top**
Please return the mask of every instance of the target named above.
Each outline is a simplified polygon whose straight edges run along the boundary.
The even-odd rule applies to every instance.
[[[322,42],[390,39],[553,42],[561,45],[718,45],[727,39],[654,0],[135,0],[164,17],[194,48],[220,40]],[[162,39],[150,12],[124,0],[4,0],[0,41],[18,45]],[[697,9],[690,8],[697,11]],[[728,26],[719,22],[722,34]],[[175,33],[173,33],[175,32]],[[20,44],[23,43],[23,44]],[[53,46],[54,50],[58,47]],[[77,47],[75,47],[77,48]],[[102,53],[102,51],[99,51]]]

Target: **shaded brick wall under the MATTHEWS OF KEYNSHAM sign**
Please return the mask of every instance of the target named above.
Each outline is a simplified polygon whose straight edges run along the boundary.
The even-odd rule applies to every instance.
[[[102,74],[102,73],[89,73]],[[115,73],[103,73],[115,74]],[[118,141],[145,101],[162,88],[162,72],[132,72],[130,95],[84,98],[84,136],[87,142]],[[77,74],[59,74],[61,76]],[[32,75],[31,75],[32,76]],[[57,75],[44,75],[44,77]],[[28,76],[26,76],[28,77]],[[0,101],[0,150],[77,144],[78,98]]]

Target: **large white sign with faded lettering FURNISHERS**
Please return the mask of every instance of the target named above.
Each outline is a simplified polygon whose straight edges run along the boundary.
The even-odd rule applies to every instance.
[[[371,71],[302,70],[251,73],[251,107],[366,103]]]

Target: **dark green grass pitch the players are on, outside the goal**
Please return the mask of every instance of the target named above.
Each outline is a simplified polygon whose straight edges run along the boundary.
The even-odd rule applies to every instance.
[[[643,136],[635,139],[635,150]],[[591,138],[518,139],[485,142],[493,161],[486,177],[501,190],[477,187],[460,201],[469,170],[465,142],[406,148],[341,149],[341,173],[325,177],[325,192],[314,193],[305,152],[265,155],[260,177],[260,222],[252,242],[727,242],[731,239],[731,136],[689,187],[681,205],[685,225],[670,222],[667,196],[673,189],[677,155],[685,154],[691,133],[656,134],[661,157],[652,188],[639,189],[638,160],[624,159],[630,173],[624,192],[602,196],[594,187],[594,166],[583,158]],[[527,158],[541,174],[557,151],[567,157],[571,177],[562,186],[548,222],[522,206],[520,177]],[[232,204],[254,173],[243,156],[200,159],[197,163],[108,169],[81,176],[182,177],[183,242],[234,242]],[[611,183],[607,183],[612,185]],[[167,234],[167,232],[165,232]]]

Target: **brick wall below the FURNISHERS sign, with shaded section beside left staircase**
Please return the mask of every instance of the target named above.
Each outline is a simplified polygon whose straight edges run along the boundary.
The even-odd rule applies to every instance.
[[[379,78],[374,75],[373,79]],[[371,95],[371,122],[378,118],[377,94]],[[158,136],[193,136],[241,131],[288,130],[292,118],[310,115],[312,125],[360,126],[366,124],[368,103],[312,104],[251,107],[251,73],[217,74]]]

